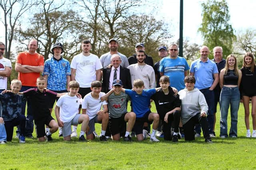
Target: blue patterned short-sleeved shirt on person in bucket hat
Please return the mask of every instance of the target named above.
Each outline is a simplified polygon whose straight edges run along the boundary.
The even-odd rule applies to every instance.
[[[47,59],[44,63],[44,72],[48,75],[47,88],[50,90],[66,90],[67,75],[71,75],[70,64],[62,57],[56,60],[54,57]]]

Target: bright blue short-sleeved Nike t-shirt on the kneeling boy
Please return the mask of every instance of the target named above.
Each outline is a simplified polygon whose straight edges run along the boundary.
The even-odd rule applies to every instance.
[[[143,90],[139,95],[135,91],[126,89],[125,93],[128,94],[132,101],[132,109],[137,118],[143,117],[145,113],[150,111],[150,97],[156,93],[156,89]]]

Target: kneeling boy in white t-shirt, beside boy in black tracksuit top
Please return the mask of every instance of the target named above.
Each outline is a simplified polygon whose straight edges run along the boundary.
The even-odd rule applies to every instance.
[[[78,108],[80,105],[80,98],[76,96],[79,90],[79,83],[71,81],[68,84],[70,92],[61,96],[54,108],[58,125],[62,127],[62,135],[64,141],[70,141],[71,137],[71,125],[77,125],[82,123],[79,141],[86,141],[84,133],[88,128],[89,116],[85,114],[78,114]],[[59,112],[60,108],[60,112]]]

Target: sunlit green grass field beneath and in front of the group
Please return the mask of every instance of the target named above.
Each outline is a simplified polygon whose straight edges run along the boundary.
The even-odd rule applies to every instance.
[[[152,111],[156,111],[154,104]],[[215,132],[219,136],[219,112],[216,117]],[[228,122],[230,124],[230,117]],[[96,131],[100,133],[100,125],[96,125]],[[55,133],[52,135],[54,141],[49,143],[26,139],[25,144],[20,144],[14,138],[12,143],[0,145],[0,170],[256,169],[256,139],[248,139],[245,134],[244,107],[240,104],[237,139],[216,137],[212,139],[213,144],[204,143],[203,137],[194,142],[181,139],[178,143],[166,142],[163,138],[158,138],[160,143],[151,143],[149,139],[143,142],[134,139],[133,143],[104,143],[96,139],[82,143],[78,138],[64,142]]]

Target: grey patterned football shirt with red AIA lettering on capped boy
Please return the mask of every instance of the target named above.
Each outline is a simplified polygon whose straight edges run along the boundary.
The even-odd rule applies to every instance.
[[[109,116],[113,118],[121,117],[123,114],[127,113],[127,101],[129,96],[123,92],[116,96],[114,93],[110,94],[108,97],[108,110]]]

